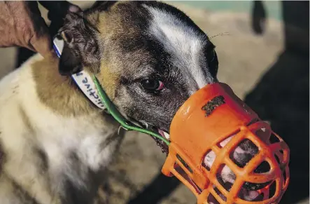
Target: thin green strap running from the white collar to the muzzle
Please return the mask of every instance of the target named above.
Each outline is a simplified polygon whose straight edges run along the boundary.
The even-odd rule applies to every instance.
[[[126,119],[122,116],[122,114],[120,114],[120,112],[118,111],[118,109],[116,109],[113,102],[111,102],[111,100],[108,98],[108,95],[106,95],[106,92],[102,89],[97,77],[93,75],[92,78],[94,80],[94,85],[98,90],[99,97],[102,100],[102,102],[104,102],[106,109],[108,109],[109,113],[113,116],[113,118],[115,118],[116,121],[118,121],[118,123],[120,123],[120,125],[122,125],[123,128],[125,128],[126,130],[136,130],[139,132],[146,133],[148,135],[152,135],[153,137],[157,137],[158,139],[162,140],[169,146],[170,142],[161,135],[158,135],[150,130],[139,128],[138,126],[128,125]]]

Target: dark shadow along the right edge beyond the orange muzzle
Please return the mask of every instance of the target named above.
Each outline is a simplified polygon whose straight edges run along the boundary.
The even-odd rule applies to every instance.
[[[282,6],[285,48],[245,102],[290,147],[290,184],[281,203],[297,203],[309,197],[309,1]],[[253,29],[260,22],[253,18]]]

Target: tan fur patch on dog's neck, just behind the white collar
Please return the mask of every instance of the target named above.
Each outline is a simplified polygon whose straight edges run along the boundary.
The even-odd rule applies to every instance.
[[[50,55],[32,65],[39,100],[52,111],[64,116],[101,113],[69,76],[59,74],[58,63],[57,57]]]

